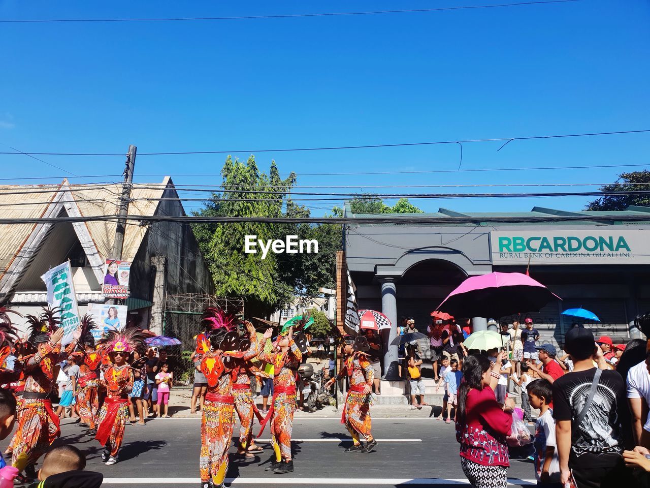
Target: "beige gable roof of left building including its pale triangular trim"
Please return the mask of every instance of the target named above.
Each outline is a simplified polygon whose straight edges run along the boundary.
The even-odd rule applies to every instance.
[[[168,185],[173,185],[168,176],[162,183],[133,185],[131,199],[135,201],[129,204],[129,215],[155,215],[159,199]],[[20,194],[17,195],[18,192]],[[0,187],[0,212],[5,218],[17,219],[57,217],[62,211],[70,217],[116,215],[121,192],[121,183],[71,185],[68,180],[63,180],[60,185],[7,185]],[[0,299],[18,284],[52,225],[0,224]],[[110,254],[117,223],[73,223],[73,227],[98,282],[101,282],[103,262],[112,258]],[[135,258],[145,234],[144,226],[126,226],[123,260]]]

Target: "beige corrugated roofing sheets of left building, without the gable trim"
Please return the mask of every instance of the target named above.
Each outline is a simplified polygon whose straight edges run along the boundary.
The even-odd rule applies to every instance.
[[[159,204],[159,198],[170,182],[166,176],[162,183],[135,184],[131,190],[133,201],[129,204],[129,215],[154,215]],[[38,190],[56,190],[60,193],[41,193]],[[72,190],[72,200],[83,217],[96,215],[116,215],[118,200],[122,192],[122,184],[109,185],[70,185],[64,180],[60,185],[2,185],[0,186],[0,214],[5,218],[24,219],[42,217],[48,211],[54,210],[59,200],[64,204],[70,201],[64,197],[64,192]],[[19,195],[7,193],[24,192]],[[27,193],[29,192],[29,193]],[[144,200],[140,200],[144,199]],[[92,201],[98,200],[98,201]],[[49,202],[49,204],[47,204]],[[19,255],[25,241],[38,224],[0,224],[0,274]],[[94,241],[102,259],[110,258],[115,230],[114,222],[86,223],[90,237]],[[124,235],[122,259],[131,261],[142,242],[146,228],[139,225],[127,225]]]

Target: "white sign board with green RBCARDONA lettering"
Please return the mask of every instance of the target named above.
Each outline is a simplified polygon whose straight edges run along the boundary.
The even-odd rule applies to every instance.
[[[493,231],[492,264],[650,264],[649,237],[650,230]]]

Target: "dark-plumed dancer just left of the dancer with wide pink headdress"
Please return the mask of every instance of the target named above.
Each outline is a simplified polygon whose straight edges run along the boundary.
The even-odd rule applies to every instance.
[[[81,319],[81,338],[79,348],[83,362],[80,365],[79,385],[77,386],[77,411],[81,422],[88,426],[88,434],[97,433],[97,414],[99,411],[99,364],[101,356],[95,351],[92,331],[97,328],[92,316],[86,314]]]

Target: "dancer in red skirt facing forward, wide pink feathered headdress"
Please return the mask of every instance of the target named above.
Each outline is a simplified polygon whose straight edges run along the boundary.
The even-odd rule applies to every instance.
[[[124,439],[124,427],[129,417],[129,392],[133,388],[133,369],[127,362],[135,349],[144,349],[144,334],[140,329],[126,332],[111,331],[99,340],[110,359],[110,366],[104,371],[101,381],[107,390],[107,397],[99,411],[98,429],[95,439],[104,446],[101,460],[107,466],[118,462],[120,447]]]

